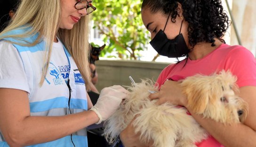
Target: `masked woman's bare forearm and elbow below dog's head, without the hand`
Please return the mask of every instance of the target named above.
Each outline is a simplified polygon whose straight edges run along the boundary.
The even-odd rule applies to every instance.
[[[225,147],[256,147],[256,87],[240,88],[240,97],[249,104],[249,113],[244,124],[224,126],[194,113],[192,116]]]

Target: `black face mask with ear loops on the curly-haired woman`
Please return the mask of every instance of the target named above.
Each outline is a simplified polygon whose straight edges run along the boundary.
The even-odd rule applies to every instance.
[[[170,15],[169,15],[170,16]],[[168,19],[169,19],[168,16]],[[167,22],[168,22],[167,19]],[[165,24],[165,27],[167,25]],[[181,27],[182,27],[181,22]],[[165,30],[164,27],[164,30]],[[181,31],[180,27],[180,31]],[[168,39],[164,30],[160,31],[156,34],[156,36],[149,42],[152,47],[162,56],[167,56],[168,58],[178,58],[184,57],[189,53],[189,49],[186,45],[183,35],[179,32],[179,35],[174,39]]]

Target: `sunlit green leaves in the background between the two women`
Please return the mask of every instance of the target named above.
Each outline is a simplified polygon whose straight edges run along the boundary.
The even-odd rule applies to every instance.
[[[117,52],[121,59],[138,59],[138,51],[146,50],[148,31],[141,20],[142,0],[94,0],[94,27],[109,45],[101,55]]]

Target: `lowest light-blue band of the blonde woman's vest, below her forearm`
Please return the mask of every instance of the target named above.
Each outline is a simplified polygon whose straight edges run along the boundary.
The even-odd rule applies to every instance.
[[[72,140],[76,147],[88,147],[87,144],[87,136],[72,136]],[[0,147],[9,147],[6,142],[0,142]],[[47,142],[47,143],[41,143],[38,145],[32,145],[27,147],[74,147],[70,136],[66,136],[64,138]]]

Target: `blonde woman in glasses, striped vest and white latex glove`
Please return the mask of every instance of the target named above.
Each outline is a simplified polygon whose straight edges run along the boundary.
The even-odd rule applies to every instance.
[[[21,0],[0,33],[0,147],[87,147],[86,127],[126,97],[120,86],[88,97],[91,2]]]

